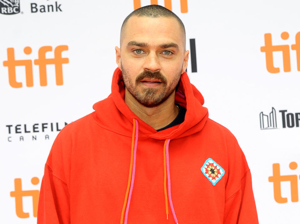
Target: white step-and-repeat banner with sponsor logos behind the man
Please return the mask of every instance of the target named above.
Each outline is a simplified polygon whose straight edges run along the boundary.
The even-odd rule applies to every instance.
[[[124,18],[160,4],[185,24],[187,73],[236,136],[260,223],[300,223],[299,1],[0,0],[1,223],[36,223],[59,131],[110,93]]]

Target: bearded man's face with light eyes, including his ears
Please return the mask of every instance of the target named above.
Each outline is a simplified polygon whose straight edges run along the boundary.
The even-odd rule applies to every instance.
[[[164,17],[133,16],[124,28],[116,55],[126,89],[142,105],[157,106],[186,70],[183,32],[175,18]]]

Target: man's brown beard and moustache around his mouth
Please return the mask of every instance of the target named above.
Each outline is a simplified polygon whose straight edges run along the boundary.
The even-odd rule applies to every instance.
[[[129,78],[127,71],[123,67],[122,74],[127,90],[140,104],[145,107],[156,107],[165,102],[175,90],[181,76],[181,73],[178,72],[178,75],[175,76],[170,85],[167,85],[167,79],[160,72],[145,70],[137,76],[135,84],[133,84],[133,80]],[[144,78],[159,79],[162,82],[160,84],[162,85],[162,88],[141,87],[140,81]]]

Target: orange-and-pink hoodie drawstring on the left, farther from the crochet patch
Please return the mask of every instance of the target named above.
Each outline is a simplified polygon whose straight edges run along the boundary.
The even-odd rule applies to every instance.
[[[127,204],[127,207],[126,207],[124,224],[127,224],[129,205],[130,205],[130,200],[131,200],[131,195],[132,195],[132,190],[133,190],[133,183],[134,183],[135,163],[136,163],[136,158],[137,158],[137,146],[138,146],[138,121],[135,118],[133,118],[133,131],[132,131],[132,142],[131,142],[129,177],[128,177],[128,184],[127,184],[127,189],[126,189],[126,194],[125,194],[124,205],[123,205],[122,214],[121,214],[121,221],[120,221],[121,224],[123,223],[126,204]],[[128,196],[128,194],[129,194],[129,196]],[[127,201],[127,199],[128,199],[128,201]]]

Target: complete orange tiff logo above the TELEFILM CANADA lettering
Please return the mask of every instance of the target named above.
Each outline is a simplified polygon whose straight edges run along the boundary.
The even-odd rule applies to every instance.
[[[34,60],[34,64],[39,66],[40,85],[47,86],[47,70],[46,65],[55,65],[56,85],[63,85],[63,64],[68,64],[68,58],[62,58],[62,52],[68,50],[67,45],[60,45],[54,49],[54,58],[46,58],[46,53],[52,51],[51,46],[43,46],[38,50],[38,59]],[[25,47],[24,53],[30,55],[31,47]],[[16,66],[25,66],[26,86],[33,86],[32,60],[15,60],[15,50],[7,49],[7,61],[3,61],[3,65],[8,67],[9,85],[14,88],[21,88],[22,82],[17,82]]]

